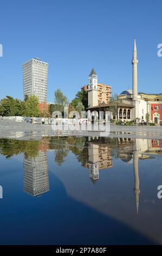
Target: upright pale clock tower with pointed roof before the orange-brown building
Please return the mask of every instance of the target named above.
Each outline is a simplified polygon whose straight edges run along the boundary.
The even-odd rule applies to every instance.
[[[90,72],[88,79],[88,107],[98,106],[98,76],[94,69]]]

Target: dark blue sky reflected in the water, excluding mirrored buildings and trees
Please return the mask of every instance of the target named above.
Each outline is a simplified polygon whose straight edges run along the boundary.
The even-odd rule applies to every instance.
[[[113,160],[94,185],[73,153],[58,166],[49,151],[50,191],[35,198],[23,191],[23,154],[0,156],[0,243],[162,243],[162,157],[155,157],[139,160],[137,215],[133,164]]]

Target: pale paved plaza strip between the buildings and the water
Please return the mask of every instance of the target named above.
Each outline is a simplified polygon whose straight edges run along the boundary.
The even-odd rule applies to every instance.
[[[162,139],[161,126],[110,126],[110,132],[54,131],[51,125],[0,120],[0,138],[39,139],[44,136],[106,136],[120,138]]]

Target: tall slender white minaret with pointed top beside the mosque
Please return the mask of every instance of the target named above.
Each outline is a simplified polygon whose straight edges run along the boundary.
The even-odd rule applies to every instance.
[[[132,77],[132,100],[133,100],[133,115],[132,118],[135,119],[139,115],[139,102],[138,102],[138,93],[137,93],[137,64],[138,64],[138,58],[137,58],[137,46],[136,41],[134,38],[134,46],[133,46],[133,58],[132,58],[132,65],[133,65],[133,77]]]

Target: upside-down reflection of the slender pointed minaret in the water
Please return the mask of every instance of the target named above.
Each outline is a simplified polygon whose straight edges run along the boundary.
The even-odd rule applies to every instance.
[[[138,174],[138,151],[133,152],[133,169],[134,169],[134,195],[135,195],[135,205],[138,214],[138,206],[139,206],[139,174]]]

